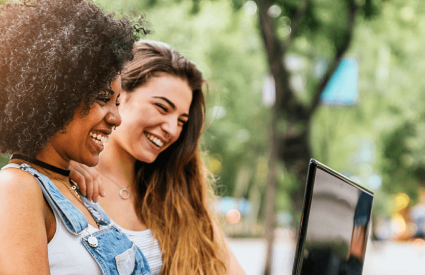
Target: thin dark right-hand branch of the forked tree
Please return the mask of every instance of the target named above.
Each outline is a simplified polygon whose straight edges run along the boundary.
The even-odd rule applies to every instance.
[[[357,11],[357,4],[355,3],[355,0],[346,0],[347,6],[348,6],[348,16],[347,16],[347,35],[344,40],[344,43],[336,49],[335,57],[333,58],[332,62],[329,62],[329,66],[323,76],[323,80],[320,82],[319,86],[316,89],[315,94],[313,95],[313,100],[310,105],[310,108],[308,109],[308,116],[311,116],[317,106],[320,103],[320,96],[323,92],[324,87],[329,82],[330,77],[332,76],[333,72],[335,72],[336,67],[338,66],[342,56],[348,49],[350,42],[352,40],[353,36],[353,30],[354,30],[354,20],[355,20],[355,14]]]

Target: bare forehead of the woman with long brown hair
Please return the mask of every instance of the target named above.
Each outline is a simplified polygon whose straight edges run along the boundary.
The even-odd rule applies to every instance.
[[[163,74],[150,78],[141,88],[141,92],[150,99],[166,97],[175,105],[176,110],[189,112],[192,90],[186,80]]]

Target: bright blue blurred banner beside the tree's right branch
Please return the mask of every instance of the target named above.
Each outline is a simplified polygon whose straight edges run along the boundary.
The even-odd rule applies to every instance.
[[[328,105],[354,105],[358,101],[358,66],[353,58],[343,58],[321,94]]]

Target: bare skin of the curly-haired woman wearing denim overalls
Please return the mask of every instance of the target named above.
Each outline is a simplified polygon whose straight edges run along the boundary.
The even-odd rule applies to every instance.
[[[120,77],[111,83],[114,94],[107,102],[97,100],[87,115],[81,117],[80,109],[75,110],[73,119],[66,125],[65,134],[56,133],[39,150],[36,158],[54,166],[67,169],[74,160],[92,166],[98,161],[103,149],[93,143],[90,131],[111,131],[112,124],[119,125],[115,100],[121,90]],[[23,163],[12,159],[9,163]],[[59,191],[72,202],[97,228],[88,210],[58,180],[52,179],[40,167],[31,164],[39,172],[49,176]],[[50,172],[65,182],[67,177]],[[54,214],[43,198],[38,181],[20,169],[6,168],[0,172],[0,274],[50,274],[47,244],[56,231]]]

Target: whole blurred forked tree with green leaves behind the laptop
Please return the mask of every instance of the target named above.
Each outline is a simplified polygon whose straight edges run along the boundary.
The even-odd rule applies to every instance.
[[[303,182],[305,182],[308,162],[312,157],[310,145],[311,118],[320,104],[320,97],[332,73],[347,51],[353,37],[354,21],[357,10],[362,8],[363,14],[370,16],[374,6],[364,1],[359,6],[355,0],[340,1],[291,1],[291,0],[255,0],[258,6],[258,26],[263,38],[269,70],[275,82],[276,101],[273,106],[271,130],[271,154],[269,160],[270,174],[267,182],[266,231],[268,249],[265,275],[270,274],[271,244],[275,220],[274,190],[276,179],[273,176],[276,162],[281,160],[286,169],[295,174],[298,188],[294,189],[292,198],[295,209],[301,209],[303,198]],[[273,14],[273,9],[282,8],[283,14]],[[327,12],[328,16],[318,16]],[[277,16],[275,16],[277,15]],[[276,25],[279,17],[290,19],[290,32],[283,39],[279,38]],[[330,19],[333,17],[334,19]],[[281,24],[281,22],[280,22]],[[324,39],[332,49],[326,56],[329,59],[327,69],[322,78],[312,83],[308,100],[302,101],[290,83],[291,72],[283,60],[287,60],[289,52],[299,37],[309,36],[311,40]],[[284,129],[278,129],[279,121],[284,121]]]

